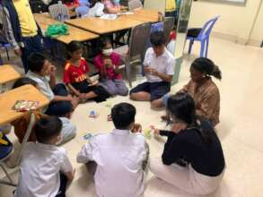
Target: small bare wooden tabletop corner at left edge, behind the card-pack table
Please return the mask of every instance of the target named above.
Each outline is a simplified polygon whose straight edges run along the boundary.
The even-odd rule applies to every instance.
[[[12,65],[0,65],[0,84],[17,80],[20,77],[21,74],[15,71]]]

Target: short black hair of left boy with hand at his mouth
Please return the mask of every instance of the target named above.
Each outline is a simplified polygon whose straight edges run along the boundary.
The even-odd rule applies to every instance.
[[[46,56],[43,56],[42,54],[39,53],[32,53],[28,57],[28,64],[29,64],[29,69],[31,72],[41,72],[45,61],[47,60]]]

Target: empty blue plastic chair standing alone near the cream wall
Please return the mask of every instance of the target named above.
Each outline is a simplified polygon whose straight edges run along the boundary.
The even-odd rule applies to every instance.
[[[215,16],[215,18],[206,21],[206,24],[201,29],[197,37],[187,37],[187,39],[189,39],[188,54],[191,53],[194,42],[199,41],[201,42],[200,56],[203,57],[205,52],[205,57],[207,57],[210,33],[215,25],[215,21],[217,21],[218,18],[219,16]]]

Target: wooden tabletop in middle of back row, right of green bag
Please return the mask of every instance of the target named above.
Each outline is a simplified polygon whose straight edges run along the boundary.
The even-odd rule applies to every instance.
[[[137,25],[144,23],[144,21],[136,21],[127,17],[118,17],[115,20],[105,20],[100,18],[83,18],[72,19],[66,21],[67,24],[81,28],[83,30],[89,30],[97,34],[112,33],[118,30],[131,29]]]

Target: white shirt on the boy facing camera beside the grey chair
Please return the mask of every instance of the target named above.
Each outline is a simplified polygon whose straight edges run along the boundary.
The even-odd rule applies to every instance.
[[[156,56],[153,47],[150,47],[147,49],[145,54],[145,61],[144,66],[150,66],[154,68],[159,73],[165,73],[168,75],[174,74],[174,66],[175,66],[175,58],[171,55],[171,53],[167,50],[167,48],[164,49],[164,52],[161,56]],[[153,76],[150,73],[145,73],[145,76],[147,78],[147,81],[149,82],[161,82],[162,79]]]

